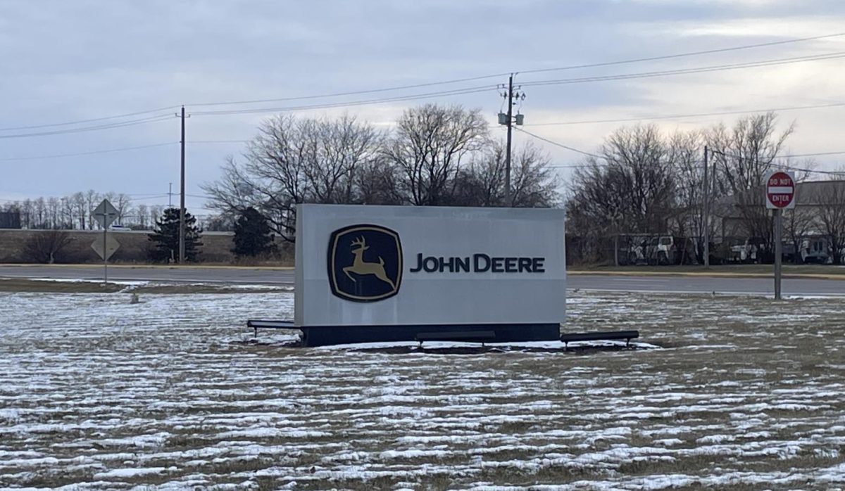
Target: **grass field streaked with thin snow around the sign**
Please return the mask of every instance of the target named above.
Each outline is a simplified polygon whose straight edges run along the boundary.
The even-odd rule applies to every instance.
[[[845,301],[570,299],[662,348],[285,348],[289,292],[0,293],[0,488],[836,489]]]

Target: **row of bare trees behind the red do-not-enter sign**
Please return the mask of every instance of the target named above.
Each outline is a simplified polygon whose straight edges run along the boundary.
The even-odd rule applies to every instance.
[[[663,133],[655,125],[620,127],[575,170],[567,197],[568,229],[581,236],[678,235],[697,240],[724,232],[715,217],[739,222],[747,237],[773,251],[772,217],[762,186],[772,170],[798,167],[807,181],[812,160],[784,158],[794,124],[777,128],[773,112],[690,132]],[[705,220],[704,149],[708,149],[710,219]],[[830,236],[835,261],[845,246],[845,190],[820,186],[811,207],[784,213],[784,237],[799,247],[812,233]]]

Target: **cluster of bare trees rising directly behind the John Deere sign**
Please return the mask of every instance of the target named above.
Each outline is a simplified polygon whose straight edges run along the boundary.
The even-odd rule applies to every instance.
[[[232,223],[248,208],[293,240],[299,203],[551,207],[558,181],[548,154],[528,143],[511,164],[505,202],[504,143],[481,111],[428,104],[383,130],[354,116],[271,117],[240,159],[203,186],[206,206]]]

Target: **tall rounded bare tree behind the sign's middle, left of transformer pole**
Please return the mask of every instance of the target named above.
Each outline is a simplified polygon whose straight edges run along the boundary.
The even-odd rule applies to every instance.
[[[461,159],[488,138],[479,110],[459,105],[428,104],[406,110],[384,147],[384,155],[401,175],[400,192],[414,205],[450,201]]]

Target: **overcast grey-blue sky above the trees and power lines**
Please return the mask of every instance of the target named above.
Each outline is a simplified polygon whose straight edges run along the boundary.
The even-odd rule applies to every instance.
[[[85,1],[0,0],[0,199],[62,196],[95,189],[125,192],[135,202],[166,204],[178,189],[179,121],[185,104],[188,208],[204,213],[199,185],[213,181],[227,154],[271,113],[201,116],[199,111],[280,108],[482,87],[504,76],[379,94],[260,104],[202,103],[280,99],[425,84],[455,78],[659,57],[687,51],[835,34],[845,31],[841,0],[525,0],[525,1]],[[517,82],[640,73],[684,67],[845,51],[845,36],[696,57],[547,73]],[[842,102],[843,58],[659,78],[526,87],[525,129],[587,151],[623,123],[527,126],[683,115]],[[401,111],[427,101],[480,108],[494,125],[496,89],[428,100],[301,111],[334,116],[349,111],[390,125]],[[151,111],[161,109],[161,111]],[[166,109],[164,109],[166,108]],[[54,123],[139,111],[137,116],[70,126]],[[845,107],[782,111],[796,121],[788,141],[795,154],[845,151]],[[739,116],[655,121],[667,132],[730,124]],[[100,127],[85,132],[8,138]],[[630,123],[629,123],[630,124]],[[21,128],[35,127],[35,128]],[[19,129],[14,129],[19,128]],[[502,128],[493,126],[494,134]],[[515,143],[530,139],[515,133]],[[548,143],[554,165],[581,156]],[[134,150],[113,148],[159,145]],[[817,158],[834,168],[842,156]],[[564,179],[566,169],[559,169]],[[176,200],[177,198],[174,198]]]

